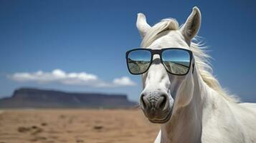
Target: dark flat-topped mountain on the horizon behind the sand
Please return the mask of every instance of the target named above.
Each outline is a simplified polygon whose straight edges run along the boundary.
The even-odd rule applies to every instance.
[[[0,99],[0,108],[129,108],[135,102],[124,94],[71,93],[21,88]]]

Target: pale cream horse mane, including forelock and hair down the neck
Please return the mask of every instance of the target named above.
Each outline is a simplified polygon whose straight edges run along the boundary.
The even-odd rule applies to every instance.
[[[179,30],[179,23],[176,19],[163,19],[159,23],[151,27],[151,29],[144,36],[141,47],[150,46],[153,41],[163,36],[163,31]],[[218,92],[224,99],[229,102],[239,102],[239,99],[234,95],[229,95],[227,90],[223,89],[219,84],[216,77],[214,77],[212,66],[209,62],[211,56],[207,54],[207,46],[204,46],[202,41],[199,41],[196,36],[191,40],[190,50],[193,52],[196,66],[199,69],[199,74],[201,75],[203,81],[216,92]]]

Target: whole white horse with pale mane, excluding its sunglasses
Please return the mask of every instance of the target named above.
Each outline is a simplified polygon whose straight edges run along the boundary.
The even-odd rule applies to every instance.
[[[220,87],[207,62],[209,55],[192,40],[200,24],[197,7],[181,27],[175,19],[149,26],[146,16],[138,14],[141,47],[177,47],[194,55],[194,71],[190,69],[184,76],[169,74],[158,54],[153,55],[153,63],[142,75],[141,109],[151,122],[161,124],[155,142],[256,142],[256,104],[239,103]],[[163,109],[156,111],[152,106]]]

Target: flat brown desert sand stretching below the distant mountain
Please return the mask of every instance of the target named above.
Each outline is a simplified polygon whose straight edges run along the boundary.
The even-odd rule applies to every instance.
[[[159,127],[140,109],[9,109],[0,114],[0,143],[153,142]]]

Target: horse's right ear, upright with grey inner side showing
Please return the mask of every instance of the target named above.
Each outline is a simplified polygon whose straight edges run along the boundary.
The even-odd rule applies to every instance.
[[[189,18],[186,19],[186,23],[181,27],[181,34],[185,37],[186,42],[190,44],[191,39],[193,39],[199,31],[200,25],[201,12],[194,6]]]

